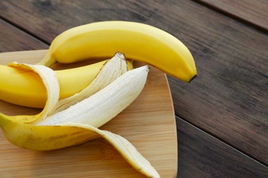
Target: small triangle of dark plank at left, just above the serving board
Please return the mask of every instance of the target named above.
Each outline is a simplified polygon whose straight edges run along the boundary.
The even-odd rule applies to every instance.
[[[0,19],[0,52],[47,49],[47,44]],[[1,59],[0,59],[1,60]]]

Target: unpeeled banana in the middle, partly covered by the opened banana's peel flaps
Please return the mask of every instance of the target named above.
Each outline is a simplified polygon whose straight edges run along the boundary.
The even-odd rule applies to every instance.
[[[118,58],[118,57],[113,57]],[[98,75],[107,60],[95,64],[55,71],[60,85],[60,99],[70,97],[84,88]],[[127,60],[128,69],[133,68]],[[43,108],[46,90],[40,77],[33,71],[0,65],[0,99],[16,105]]]

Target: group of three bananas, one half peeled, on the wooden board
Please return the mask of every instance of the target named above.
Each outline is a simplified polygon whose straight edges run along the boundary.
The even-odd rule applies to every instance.
[[[128,60],[116,51],[126,54]],[[62,71],[49,68],[56,62],[96,58],[111,60]],[[197,75],[187,47],[161,29],[126,21],[74,27],[53,40],[38,64],[0,65],[0,99],[43,108],[34,116],[0,113],[5,137],[12,144],[35,150],[60,149],[102,137],[140,173],[159,177],[126,139],[98,129],[129,106],[144,88],[148,66],[133,69],[133,60],[186,82]]]

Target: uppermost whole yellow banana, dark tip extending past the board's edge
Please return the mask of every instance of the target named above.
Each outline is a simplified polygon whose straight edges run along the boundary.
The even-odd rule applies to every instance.
[[[164,73],[190,82],[197,68],[188,48],[166,31],[142,23],[103,21],[89,23],[56,36],[38,64],[72,63],[109,58],[116,51],[126,58],[146,62]]]

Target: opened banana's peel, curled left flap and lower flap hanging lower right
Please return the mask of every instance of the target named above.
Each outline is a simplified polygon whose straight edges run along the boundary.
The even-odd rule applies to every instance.
[[[22,117],[5,116],[0,113],[0,125],[5,137],[12,144],[27,149],[51,150],[71,147],[95,138],[104,138],[140,173],[148,177],[160,177],[155,168],[135,149],[133,144],[115,133],[80,123],[65,123],[57,126],[30,124],[45,118],[56,107],[60,92],[58,79],[52,69],[42,65],[12,63],[10,66],[34,71],[41,77],[47,88],[47,102],[40,114]]]

